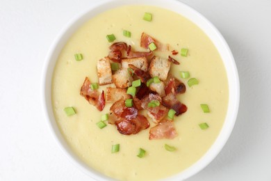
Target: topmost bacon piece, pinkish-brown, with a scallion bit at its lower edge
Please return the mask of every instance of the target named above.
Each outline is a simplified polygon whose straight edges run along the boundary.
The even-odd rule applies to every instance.
[[[158,40],[156,40],[155,38],[152,38],[147,33],[143,32],[140,38],[140,47],[149,49],[149,44],[151,44],[151,42],[154,42],[154,44],[157,47],[157,50],[159,51],[165,52],[169,50],[169,45],[163,45],[161,42],[158,42]]]

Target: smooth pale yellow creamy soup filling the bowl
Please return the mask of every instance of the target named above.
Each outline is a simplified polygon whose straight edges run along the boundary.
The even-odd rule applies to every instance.
[[[145,12],[153,19],[142,19]],[[123,36],[131,31],[131,38]],[[171,72],[181,79],[179,71],[189,71],[199,84],[188,86],[178,99],[188,111],[174,118],[178,136],[175,139],[149,140],[149,129],[135,135],[117,132],[115,125],[99,129],[96,123],[108,113],[111,104],[103,111],[80,95],[85,77],[98,82],[97,61],[108,55],[110,43],[106,35],[114,33],[117,41],[127,42],[137,51],[140,35],[146,32],[157,40],[170,45],[170,50],[188,48],[188,56],[172,56],[181,64],[172,64]],[[82,61],[75,61],[74,54],[83,54]],[[167,58],[171,52],[154,52]],[[113,86],[113,85],[109,85]],[[106,86],[100,86],[99,91]],[[190,20],[163,8],[152,6],[123,6],[108,10],[83,24],[67,41],[59,55],[52,82],[52,102],[58,127],[70,148],[88,166],[117,180],[158,180],[180,173],[195,164],[211,147],[222,128],[228,105],[227,75],[220,54],[206,34]],[[211,113],[204,113],[200,104],[208,104]],[[66,116],[63,109],[74,107],[76,114]],[[151,122],[151,121],[150,121]],[[208,129],[200,129],[207,123]],[[151,123],[151,126],[153,123]],[[120,152],[111,153],[111,146],[120,143]],[[174,152],[165,150],[172,145]],[[139,158],[138,150],[146,150]]]

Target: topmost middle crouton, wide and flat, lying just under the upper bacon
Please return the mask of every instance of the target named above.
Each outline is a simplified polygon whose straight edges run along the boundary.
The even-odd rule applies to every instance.
[[[129,64],[132,64],[145,72],[148,70],[148,61],[146,57],[122,59],[122,68],[129,68]]]

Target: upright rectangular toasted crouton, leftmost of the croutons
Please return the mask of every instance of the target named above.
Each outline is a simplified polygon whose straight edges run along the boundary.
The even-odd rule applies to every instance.
[[[111,65],[108,58],[101,58],[98,61],[97,73],[99,78],[99,85],[106,85],[112,83]]]

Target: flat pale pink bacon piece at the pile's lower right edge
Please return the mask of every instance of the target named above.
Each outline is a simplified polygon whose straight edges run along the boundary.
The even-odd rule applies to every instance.
[[[177,136],[176,129],[172,121],[163,120],[155,127],[149,129],[149,139],[174,139]]]

